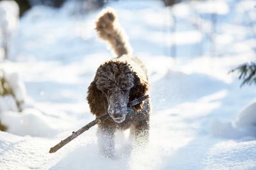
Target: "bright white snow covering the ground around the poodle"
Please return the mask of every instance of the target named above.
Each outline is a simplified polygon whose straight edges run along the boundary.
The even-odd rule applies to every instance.
[[[240,88],[228,74],[255,59],[255,4],[109,3],[148,68],[153,106],[148,146],[127,152],[129,132],[117,133],[116,160],[100,155],[96,127],[48,153],[94,119],[86,90],[113,55],[93,30],[99,11],[35,6],[20,20],[16,57],[0,64],[28,93],[22,113],[0,113],[9,127],[0,132],[0,169],[256,169],[255,86]]]

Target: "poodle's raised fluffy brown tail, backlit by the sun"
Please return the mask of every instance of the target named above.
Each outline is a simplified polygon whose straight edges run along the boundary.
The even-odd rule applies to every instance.
[[[100,38],[108,41],[117,57],[131,53],[129,41],[125,32],[116,23],[116,14],[113,9],[107,8],[100,13],[96,21],[96,30]]]

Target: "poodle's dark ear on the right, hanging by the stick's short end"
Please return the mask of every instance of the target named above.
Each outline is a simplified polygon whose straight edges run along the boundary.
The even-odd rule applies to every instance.
[[[134,87],[130,91],[129,101],[144,96],[148,92],[148,82],[138,76],[137,73],[132,73],[134,76]],[[135,110],[141,110],[143,103],[133,106]]]

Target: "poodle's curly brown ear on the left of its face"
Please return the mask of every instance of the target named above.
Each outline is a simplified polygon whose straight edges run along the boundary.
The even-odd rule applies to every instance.
[[[96,117],[100,117],[108,112],[108,101],[102,92],[97,89],[95,80],[93,80],[88,87],[87,101],[89,103],[90,110],[93,115],[96,115]]]

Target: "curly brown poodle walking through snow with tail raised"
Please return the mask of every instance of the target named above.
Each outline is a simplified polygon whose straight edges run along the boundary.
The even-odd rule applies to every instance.
[[[115,148],[113,134],[116,129],[131,128],[131,134],[136,139],[143,134],[147,141],[150,101],[147,99],[134,106],[132,115],[126,115],[125,112],[129,101],[148,94],[148,76],[143,63],[129,54],[129,43],[124,38],[124,31],[116,24],[115,11],[104,10],[96,21],[96,30],[99,37],[108,41],[118,56],[98,67],[95,78],[88,87],[87,96],[90,110],[96,117],[106,113],[112,117],[101,122],[98,129],[100,149],[109,156],[113,155]],[[118,122],[115,115],[124,119]]]

